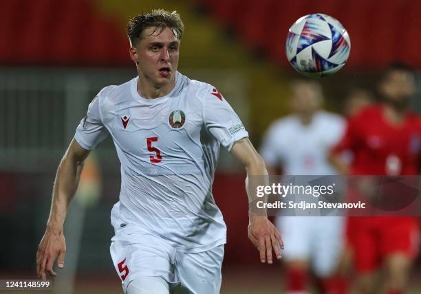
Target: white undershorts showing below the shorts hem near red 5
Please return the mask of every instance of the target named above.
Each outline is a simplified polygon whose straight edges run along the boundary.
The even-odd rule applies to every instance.
[[[139,277],[127,286],[127,294],[169,294],[169,283],[161,277]]]

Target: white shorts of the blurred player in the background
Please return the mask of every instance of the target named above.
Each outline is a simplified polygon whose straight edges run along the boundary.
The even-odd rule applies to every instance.
[[[319,278],[329,277],[338,265],[345,238],[345,220],[340,216],[280,216],[275,225],[281,232],[283,259],[307,260]]]

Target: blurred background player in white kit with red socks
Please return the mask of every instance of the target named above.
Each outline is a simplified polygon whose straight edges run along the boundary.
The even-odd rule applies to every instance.
[[[288,175],[336,174],[327,155],[343,135],[342,117],[321,110],[321,86],[312,80],[292,82],[294,114],[270,126],[261,147],[269,174],[281,166]],[[341,293],[332,280],[342,249],[343,218],[281,216],[276,225],[288,249],[287,293],[307,293],[312,268],[323,283],[323,293]]]

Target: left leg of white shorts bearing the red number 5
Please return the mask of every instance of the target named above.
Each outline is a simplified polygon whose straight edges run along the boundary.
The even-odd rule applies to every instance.
[[[164,240],[147,234],[119,233],[112,238],[110,253],[124,291],[131,281],[161,277],[173,282],[175,250]]]

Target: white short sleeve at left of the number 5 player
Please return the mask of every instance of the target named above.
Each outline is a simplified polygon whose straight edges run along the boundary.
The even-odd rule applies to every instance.
[[[94,149],[108,135],[100,117],[100,94],[101,92],[89,104],[87,115],[80,120],[74,135],[78,144],[87,150]]]

